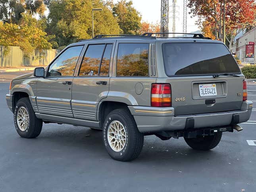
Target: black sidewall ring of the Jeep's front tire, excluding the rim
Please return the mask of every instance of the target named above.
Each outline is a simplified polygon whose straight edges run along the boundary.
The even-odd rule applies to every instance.
[[[29,113],[29,125],[25,131],[21,131],[17,123],[17,113],[19,111],[19,108],[21,107],[26,108],[27,112]],[[22,100],[17,102],[17,105],[15,106],[15,109],[14,109],[14,125],[15,125],[16,131],[20,136],[24,136],[24,137],[28,136],[31,128],[31,111],[29,110],[29,107],[27,106],[27,104]]]

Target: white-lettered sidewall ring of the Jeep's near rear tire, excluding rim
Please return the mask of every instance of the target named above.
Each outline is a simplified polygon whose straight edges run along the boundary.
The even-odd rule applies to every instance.
[[[110,124],[113,121],[120,121],[123,124],[123,127],[125,129],[125,133],[126,133],[126,142],[125,142],[125,147],[120,151],[120,152],[115,152],[114,150],[112,150],[109,142],[108,142],[108,129],[110,127]],[[129,129],[129,125],[127,123],[127,121],[125,120],[124,117],[122,117],[120,114],[118,113],[112,113],[110,115],[108,115],[108,117],[106,118],[105,122],[104,122],[104,126],[102,129],[102,139],[104,142],[104,146],[106,147],[106,150],[108,151],[108,153],[110,154],[111,157],[113,157],[114,159],[117,160],[121,160],[121,159],[125,159],[127,155],[129,155],[129,148],[131,146],[130,143],[130,135],[131,135],[131,131]]]

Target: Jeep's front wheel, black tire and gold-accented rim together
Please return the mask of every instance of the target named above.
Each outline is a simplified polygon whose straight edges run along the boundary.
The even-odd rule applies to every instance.
[[[27,121],[21,120],[23,117],[27,117]],[[21,121],[26,123],[19,123]],[[14,125],[21,137],[35,138],[40,134],[42,120],[37,119],[29,98],[25,97],[18,100],[14,110]]]

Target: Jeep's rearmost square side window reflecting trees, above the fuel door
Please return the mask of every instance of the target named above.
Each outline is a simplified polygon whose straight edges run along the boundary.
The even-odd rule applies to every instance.
[[[117,76],[148,76],[148,44],[120,43]]]

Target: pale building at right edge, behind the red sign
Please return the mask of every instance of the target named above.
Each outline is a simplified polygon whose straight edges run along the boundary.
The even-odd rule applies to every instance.
[[[235,52],[236,57],[242,62],[244,62],[245,58],[246,44],[249,44],[249,42],[254,42],[254,44],[256,44],[256,28],[237,38],[235,46],[231,49],[231,52]],[[254,53],[256,52],[255,48],[256,46],[254,46]],[[245,58],[245,62],[255,64],[255,54],[254,58]]]

